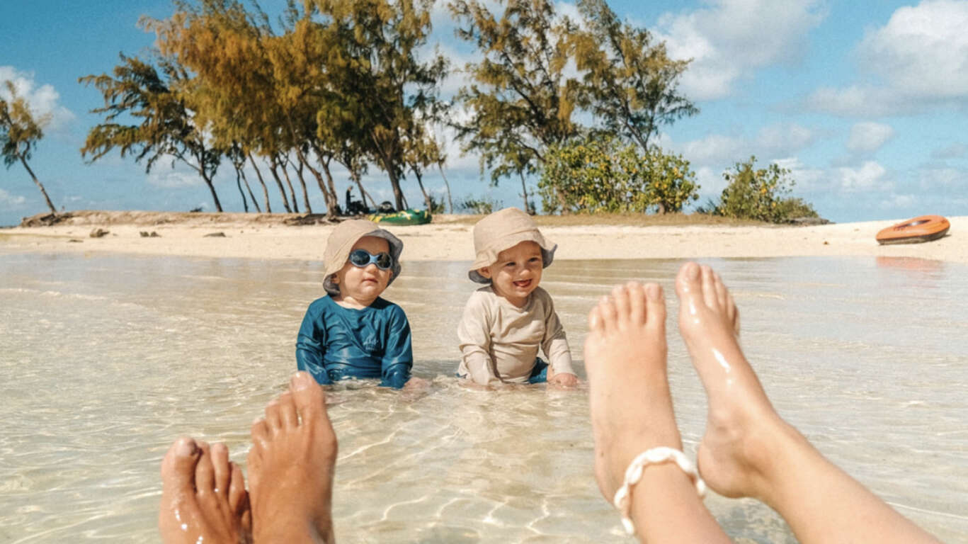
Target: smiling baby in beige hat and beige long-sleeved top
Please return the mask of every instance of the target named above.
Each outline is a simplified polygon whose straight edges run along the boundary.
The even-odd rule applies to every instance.
[[[555,305],[538,287],[556,248],[518,208],[474,225],[476,258],[468,276],[487,285],[470,295],[457,327],[458,377],[479,384],[578,382]],[[538,358],[538,348],[548,362]]]

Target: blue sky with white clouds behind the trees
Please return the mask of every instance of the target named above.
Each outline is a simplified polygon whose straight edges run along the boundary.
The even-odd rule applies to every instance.
[[[276,1],[262,2],[270,14]],[[672,55],[692,58],[680,91],[700,113],[663,130],[658,142],[690,161],[701,200],[718,196],[722,173],[751,155],[758,166],[790,168],[794,196],[842,223],[902,219],[926,213],[968,215],[968,2],[891,0],[707,0],[612,2],[623,18],[650,29]],[[558,4],[563,14],[574,5]],[[117,153],[85,164],[78,152],[101,119],[100,93],[79,76],[107,73],[118,53],[136,55],[154,36],[140,15],[166,17],[169,0],[8,0],[0,3],[0,80],[15,82],[51,123],[31,167],[58,207],[76,209],[212,209],[207,188],[185,166],[160,162],[151,173]],[[453,37],[439,3],[434,40],[454,66],[472,53]],[[454,76],[444,84],[452,92]],[[3,91],[6,92],[6,91]],[[477,158],[449,144],[446,169],[455,202],[466,196],[521,205],[520,183],[490,187]],[[227,211],[242,211],[230,167],[216,189]],[[441,194],[443,182],[424,180]],[[367,189],[391,199],[372,167]],[[340,195],[348,179],[337,174]],[[421,207],[416,183],[404,182]],[[278,196],[275,196],[278,198]],[[323,209],[318,191],[315,209]],[[278,200],[273,209],[282,209]],[[19,165],[0,169],[0,226],[45,211]]]

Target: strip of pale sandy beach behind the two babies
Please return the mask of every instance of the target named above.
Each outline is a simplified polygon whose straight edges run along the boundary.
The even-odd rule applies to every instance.
[[[294,224],[300,217],[304,216],[76,212],[49,227],[0,230],[0,252],[318,260],[334,225]],[[428,225],[385,228],[404,241],[404,261],[469,261],[473,259],[473,219],[440,215]],[[881,246],[874,240],[878,230],[905,219],[803,227],[693,224],[687,219],[659,225],[629,220],[622,225],[614,217],[596,221],[594,216],[571,216],[561,222],[564,225],[542,221],[540,228],[558,244],[556,259],[870,256],[968,264],[963,234],[968,231],[968,216],[948,218],[952,224],[948,235],[932,242]],[[98,228],[106,234],[91,237]]]

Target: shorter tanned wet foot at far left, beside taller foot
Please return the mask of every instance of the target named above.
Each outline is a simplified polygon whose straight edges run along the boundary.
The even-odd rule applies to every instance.
[[[225,444],[175,440],[162,461],[158,527],[166,544],[249,542],[249,499],[242,470]]]

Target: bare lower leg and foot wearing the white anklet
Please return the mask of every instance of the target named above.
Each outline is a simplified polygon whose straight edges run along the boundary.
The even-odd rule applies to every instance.
[[[635,456],[655,446],[682,447],[666,374],[665,317],[661,287],[637,283],[616,287],[589,314],[595,479],[610,502]],[[630,500],[643,542],[729,541],[673,463],[647,467]]]

